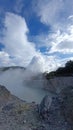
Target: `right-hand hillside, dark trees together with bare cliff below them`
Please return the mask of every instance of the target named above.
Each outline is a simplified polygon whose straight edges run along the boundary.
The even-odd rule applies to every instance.
[[[63,88],[73,86],[73,61],[68,61],[65,67],[60,67],[56,71],[45,73],[45,88],[53,93],[59,93]]]

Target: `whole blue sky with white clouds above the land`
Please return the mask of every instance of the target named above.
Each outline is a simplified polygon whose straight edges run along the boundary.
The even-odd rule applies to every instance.
[[[73,0],[0,0],[0,67],[51,71],[73,60]]]

